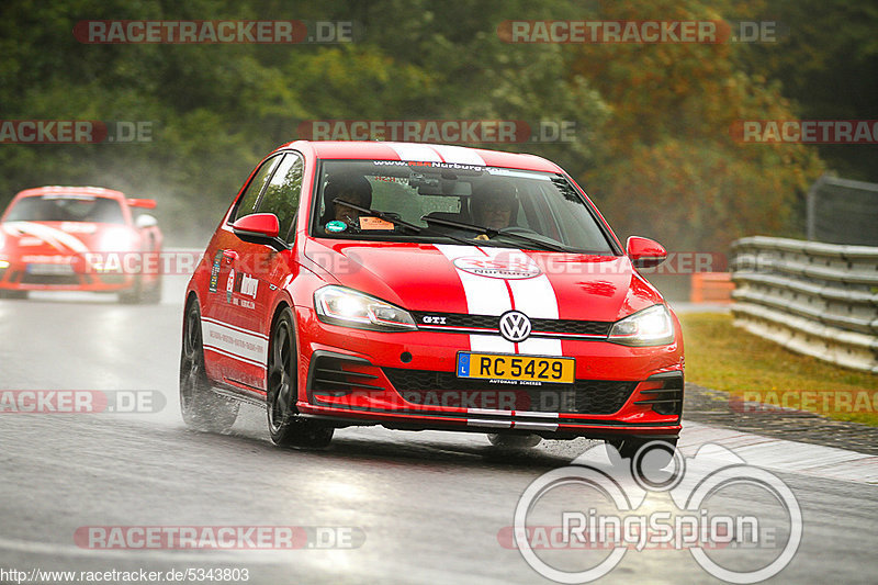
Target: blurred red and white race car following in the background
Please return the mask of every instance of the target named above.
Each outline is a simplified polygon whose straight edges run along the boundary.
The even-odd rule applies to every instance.
[[[90,291],[158,303],[162,236],[145,213],[155,206],[98,187],[20,192],[0,216],[0,297]]]

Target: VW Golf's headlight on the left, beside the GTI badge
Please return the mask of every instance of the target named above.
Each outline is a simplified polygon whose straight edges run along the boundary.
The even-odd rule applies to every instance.
[[[344,286],[317,290],[314,308],[322,322],[333,325],[380,331],[417,329],[407,311]]]

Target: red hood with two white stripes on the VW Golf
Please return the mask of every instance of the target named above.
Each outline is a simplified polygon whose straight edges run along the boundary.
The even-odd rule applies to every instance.
[[[627,256],[325,239],[304,256],[326,280],[409,311],[611,322],[663,302]]]

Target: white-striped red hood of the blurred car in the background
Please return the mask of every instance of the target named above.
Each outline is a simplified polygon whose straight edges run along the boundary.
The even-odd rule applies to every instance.
[[[124,225],[87,222],[3,222],[3,251],[75,255],[88,251],[127,251],[136,233]]]

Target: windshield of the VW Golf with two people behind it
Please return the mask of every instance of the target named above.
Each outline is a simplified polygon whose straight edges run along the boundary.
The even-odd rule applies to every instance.
[[[312,235],[614,254],[562,175],[446,162],[324,161]]]

